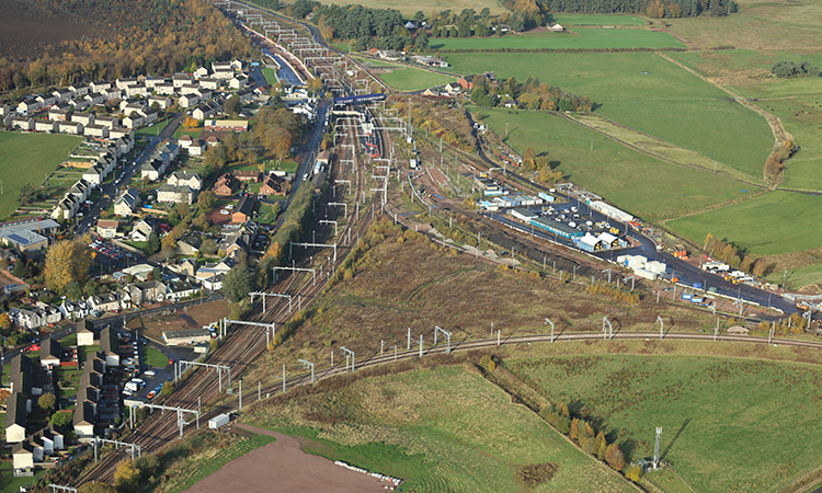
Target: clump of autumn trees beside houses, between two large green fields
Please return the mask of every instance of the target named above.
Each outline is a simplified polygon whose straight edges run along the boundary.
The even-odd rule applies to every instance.
[[[520,105],[527,110],[549,112],[590,112],[594,105],[587,96],[539,82],[539,79],[533,76],[522,84],[513,77],[492,81],[487,77],[476,76],[472,84],[471,101],[481,107],[501,106],[506,100],[518,101]]]

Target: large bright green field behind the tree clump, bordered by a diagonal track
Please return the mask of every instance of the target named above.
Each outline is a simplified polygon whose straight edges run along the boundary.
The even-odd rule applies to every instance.
[[[728,94],[652,53],[449,54],[456,73],[528,76],[586,95],[617,123],[701,152],[754,176],[774,139],[767,122]],[[648,72],[648,73],[642,73]]]

